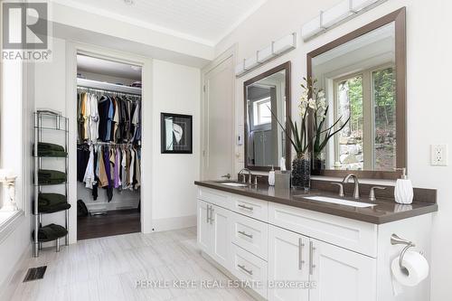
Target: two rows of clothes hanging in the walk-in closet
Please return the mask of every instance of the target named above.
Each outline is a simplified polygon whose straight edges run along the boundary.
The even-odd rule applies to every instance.
[[[92,190],[93,200],[99,197],[99,187],[106,191],[108,202],[114,189],[139,189],[139,97],[79,90],[77,121],[77,179]]]

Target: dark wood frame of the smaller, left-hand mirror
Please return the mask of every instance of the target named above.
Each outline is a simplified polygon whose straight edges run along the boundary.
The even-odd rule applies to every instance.
[[[248,110],[248,106],[247,106],[247,86],[249,86],[250,84],[257,82],[259,80],[263,80],[265,78],[267,78],[268,76],[270,76],[273,73],[279,72],[279,71],[286,71],[286,89],[285,89],[285,94],[286,94],[286,117],[290,117],[291,115],[291,106],[290,106],[290,102],[291,102],[291,98],[290,98],[290,61],[286,61],[283,64],[280,64],[279,66],[270,69],[268,71],[265,71],[261,74],[259,74],[258,76],[250,79],[250,80],[246,80],[243,83],[243,118],[244,118],[244,132],[245,132],[245,168],[248,168],[250,170],[255,170],[255,171],[269,171],[271,170],[271,167],[269,166],[256,166],[256,165],[248,165],[248,160],[247,160],[247,152],[248,152],[248,120],[247,120],[247,110]],[[288,118],[286,118],[286,125],[285,127],[288,127]],[[286,139],[286,168],[287,170],[290,169],[290,161],[291,161],[291,150],[292,150],[292,146],[290,145],[290,141],[288,139]],[[280,169],[279,167],[275,167],[276,170]]]

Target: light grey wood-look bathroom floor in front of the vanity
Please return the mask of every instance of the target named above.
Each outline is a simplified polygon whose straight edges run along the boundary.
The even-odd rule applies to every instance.
[[[195,228],[81,240],[30,259],[30,268],[41,265],[45,277],[21,283],[14,300],[253,300],[239,288],[137,288],[137,280],[227,281],[201,257]]]

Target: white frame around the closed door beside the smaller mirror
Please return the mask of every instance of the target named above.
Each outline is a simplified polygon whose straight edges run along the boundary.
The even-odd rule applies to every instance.
[[[206,165],[205,165],[205,160],[206,160],[206,135],[207,135],[207,129],[206,129],[206,120],[205,118],[206,116],[206,105],[207,105],[207,93],[205,90],[205,81],[207,78],[207,74],[209,74],[213,69],[215,69],[216,67],[218,67],[221,63],[223,63],[224,61],[228,60],[228,59],[232,59],[231,60],[231,68],[232,70],[234,70],[234,67],[236,65],[236,57],[237,57],[237,44],[232,45],[229,49],[227,49],[225,52],[222,52],[216,59],[214,59],[212,62],[210,62],[207,66],[205,66],[204,68],[202,68],[201,71],[201,92],[202,92],[202,97],[201,97],[201,164],[200,164],[200,177],[201,180],[212,180],[212,179],[206,179],[205,178],[205,170],[206,170]],[[234,173],[235,171],[235,137],[237,136],[237,132],[238,129],[237,127],[237,113],[236,113],[236,82],[235,82],[235,77],[234,75],[232,75],[232,120],[233,120],[233,124],[231,125],[232,127],[232,141],[231,141],[231,162],[232,162],[232,173]],[[232,175],[233,176],[233,175]]]

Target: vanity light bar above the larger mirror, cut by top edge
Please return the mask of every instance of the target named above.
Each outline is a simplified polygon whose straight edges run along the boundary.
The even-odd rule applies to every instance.
[[[301,27],[301,37],[307,42],[335,26],[363,14],[388,0],[344,0],[320,14]]]

